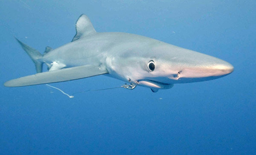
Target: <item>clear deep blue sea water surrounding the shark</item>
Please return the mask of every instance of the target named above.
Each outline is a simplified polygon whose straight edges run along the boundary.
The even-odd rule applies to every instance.
[[[97,32],[140,34],[231,63],[232,74],[70,99],[46,85],[7,88],[35,74],[14,37],[44,52],[75,35],[87,14]],[[255,0],[1,0],[0,155],[256,155]],[[46,71],[46,69],[44,69]],[[68,94],[122,86],[104,75],[53,83]]]

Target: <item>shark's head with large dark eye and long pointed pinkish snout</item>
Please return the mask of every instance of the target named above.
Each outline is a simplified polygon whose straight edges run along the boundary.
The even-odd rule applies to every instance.
[[[116,78],[154,89],[213,80],[233,72],[233,66],[224,60],[160,41],[121,53],[111,61]]]

